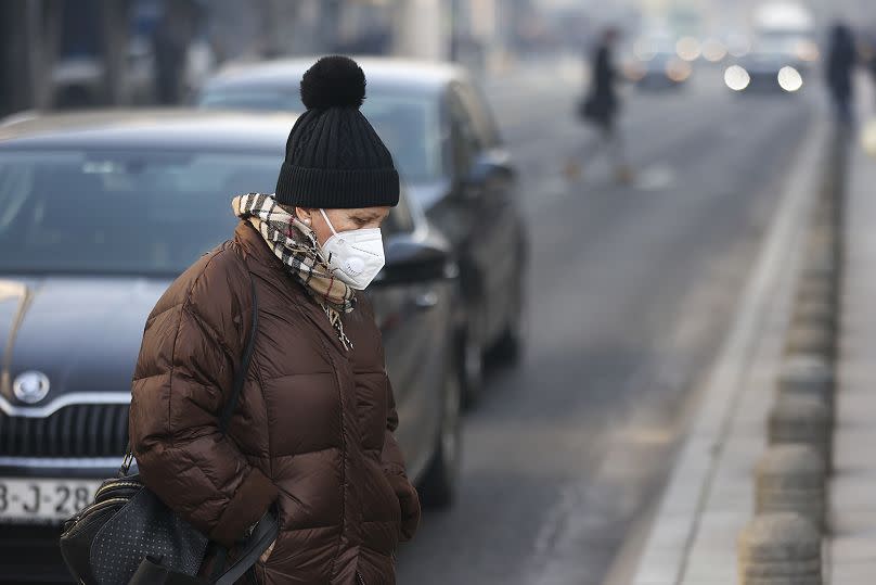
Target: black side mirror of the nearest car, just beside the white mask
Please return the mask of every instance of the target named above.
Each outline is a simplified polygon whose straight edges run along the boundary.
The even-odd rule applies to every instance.
[[[450,278],[453,274],[450,251],[442,240],[402,233],[386,242],[386,265],[374,284],[415,284]]]

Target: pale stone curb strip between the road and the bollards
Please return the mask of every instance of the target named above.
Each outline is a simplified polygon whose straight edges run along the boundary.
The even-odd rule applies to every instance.
[[[744,289],[736,320],[712,367],[698,414],[692,421],[660,500],[635,576],[630,581],[634,585],[701,583],[697,577],[704,574],[714,577],[709,583],[738,583],[734,545],[738,536],[736,523],[742,522],[738,525],[742,529],[752,511],[752,505],[746,504],[753,495],[750,480],[749,493],[734,496],[743,503],[744,512],[719,510],[708,519],[704,517],[712,493],[727,492],[727,486],[722,484],[726,470],[721,463],[732,430],[738,422],[746,377],[756,370],[762,374],[764,367],[758,360],[763,360],[764,354],[770,354],[770,367],[781,358],[782,331],[791,313],[793,278],[804,247],[800,244],[811,241],[803,239],[804,227],[815,199],[811,186],[817,183],[816,174],[822,168],[824,135],[824,123],[815,120],[788,176],[760,257]],[[821,264],[830,268],[832,259],[823,258]],[[816,296],[815,302],[822,303],[825,296],[830,295]],[[814,313],[825,314],[824,310]],[[774,359],[772,354],[775,354]],[[760,370],[758,366],[761,366]],[[760,416],[757,420],[765,432],[768,407],[764,406],[763,410],[762,416],[755,412],[748,418]],[[751,470],[756,459],[757,455],[753,455]],[[720,529],[720,534],[712,530],[714,526]],[[706,538],[721,541],[722,556],[696,563],[695,549]]]

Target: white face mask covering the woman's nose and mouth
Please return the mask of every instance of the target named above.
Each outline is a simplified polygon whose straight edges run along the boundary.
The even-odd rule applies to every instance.
[[[338,233],[325,209],[320,209],[333,236],[322,244],[328,267],[338,280],[358,291],[371,284],[386,264],[381,228],[363,228]]]

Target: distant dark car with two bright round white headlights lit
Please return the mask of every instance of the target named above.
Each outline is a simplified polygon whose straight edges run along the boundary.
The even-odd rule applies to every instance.
[[[788,94],[801,91],[808,77],[809,68],[787,53],[755,51],[724,71],[724,85],[737,93]]]

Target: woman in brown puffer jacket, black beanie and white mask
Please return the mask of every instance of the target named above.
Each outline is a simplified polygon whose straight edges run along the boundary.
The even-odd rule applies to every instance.
[[[395,583],[395,548],[418,522],[381,335],[357,294],[383,266],[379,226],[399,198],[392,160],[359,111],[364,88],[346,58],[305,74],[308,110],[276,192],[234,199],[233,239],[158,302],[134,374],[130,434],[150,488],[232,549],[275,512],[280,536],[250,575],[259,583]],[[255,351],[222,435],[254,326],[250,282]]]

